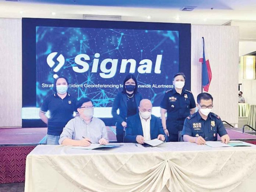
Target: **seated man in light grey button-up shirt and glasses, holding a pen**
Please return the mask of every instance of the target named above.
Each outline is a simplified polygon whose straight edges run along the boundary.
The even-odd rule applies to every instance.
[[[68,121],[64,127],[59,139],[60,145],[90,146],[91,143],[108,143],[106,125],[99,118],[93,117],[93,109],[92,100],[89,98],[78,101],[79,116]]]

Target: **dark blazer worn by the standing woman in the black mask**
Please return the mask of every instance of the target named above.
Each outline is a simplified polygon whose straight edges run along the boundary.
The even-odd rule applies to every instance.
[[[142,100],[142,95],[141,93],[137,92],[135,95],[135,101],[137,106],[139,106],[139,102]],[[119,109],[119,115],[117,114],[117,109]],[[117,96],[114,99],[113,106],[112,106],[112,111],[111,111],[115,122],[117,122],[116,126],[117,127],[122,127],[121,123],[123,121],[126,122],[126,117],[127,117],[127,96],[126,94],[122,92],[118,92]],[[137,113],[138,113],[138,108],[137,108]]]

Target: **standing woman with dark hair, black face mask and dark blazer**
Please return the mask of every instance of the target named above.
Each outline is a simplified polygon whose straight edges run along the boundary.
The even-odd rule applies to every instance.
[[[142,100],[141,93],[138,92],[137,79],[133,74],[125,77],[122,91],[117,93],[112,106],[112,115],[116,122],[117,142],[124,142],[124,131],[126,118],[138,113],[139,102]],[[117,110],[119,109],[119,114]]]

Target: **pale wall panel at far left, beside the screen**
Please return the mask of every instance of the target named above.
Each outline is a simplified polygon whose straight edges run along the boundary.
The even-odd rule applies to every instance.
[[[0,18],[0,127],[21,127],[21,19]]]

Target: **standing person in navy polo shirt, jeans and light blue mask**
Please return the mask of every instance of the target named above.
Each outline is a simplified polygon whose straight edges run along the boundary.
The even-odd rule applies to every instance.
[[[46,97],[40,108],[39,117],[47,124],[46,144],[58,145],[60,134],[69,120],[74,118],[77,99],[68,92],[68,80],[65,77],[56,78],[53,90],[55,93]],[[46,112],[50,111],[50,118]]]

